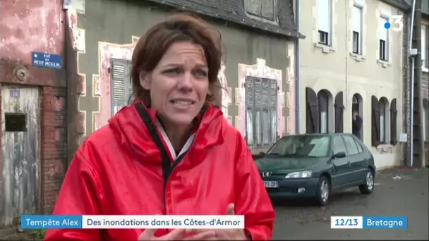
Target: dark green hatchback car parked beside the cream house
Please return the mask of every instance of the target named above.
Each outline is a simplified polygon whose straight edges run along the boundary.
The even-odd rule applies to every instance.
[[[334,191],[374,189],[374,157],[348,133],[285,136],[255,162],[272,198],[312,198],[325,206]]]

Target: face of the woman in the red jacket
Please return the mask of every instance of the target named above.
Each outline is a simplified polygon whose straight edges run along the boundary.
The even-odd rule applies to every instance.
[[[150,89],[150,108],[164,121],[189,125],[198,115],[207,95],[208,68],[203,48],[188,42],[172,44],[140,84]]]

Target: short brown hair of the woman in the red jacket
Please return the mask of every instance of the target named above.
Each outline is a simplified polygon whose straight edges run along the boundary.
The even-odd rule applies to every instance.
[[[138,40],[133,52],[131,69],[134,99],[140,99],[146,106],[150,106],[150,91],[140,85],[140,73],[154,70],[165,52],[176,42],[191,42],[203,47],[209,69],[206,101],[214,101],[220,92],[217,75],[222,61],[222,37],[219,31],[191,13],[174,14],[150,27]]]

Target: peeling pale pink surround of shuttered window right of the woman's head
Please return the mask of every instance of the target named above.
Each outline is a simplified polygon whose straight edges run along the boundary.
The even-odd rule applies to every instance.
[[[282,89],[282,70],[270,68],[266,66],[265,59],[257,58],[256,64],[248,66],[243,63],[238,63],[238,88],[236,88],[236,105],[238,106],[238,116],[235,117],[235,125],[241,135],[246,136],[246,89],[244,87],[246,83],[246,76],[252,76],[256,78],[268,78],[277,80],[277,86],[279,87],[279,94],[277,95],[277,132],[279,135],[283,135],[285,132],[285,118],[283,116],[284,108],[284,96],[285,93]]]

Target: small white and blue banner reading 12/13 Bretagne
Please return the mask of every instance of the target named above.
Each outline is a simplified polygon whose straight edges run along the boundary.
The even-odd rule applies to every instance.
[[[332,216],[331,228],[407,228],[407,221],[406,216]]]

